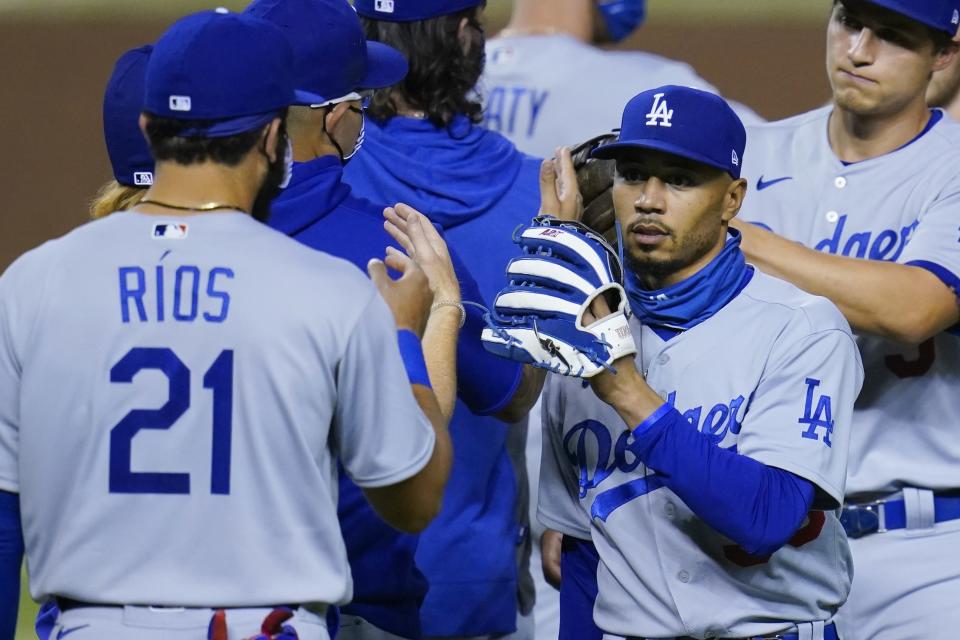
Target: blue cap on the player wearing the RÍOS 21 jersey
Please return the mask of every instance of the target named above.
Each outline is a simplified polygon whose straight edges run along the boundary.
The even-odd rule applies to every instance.
[[[206,121],[179,135],[217,138],[262,127],[292,104],[320,100],[294,90],[293,52],[280,29],[217,9],[181,18],[154,45],[143,109]]]

